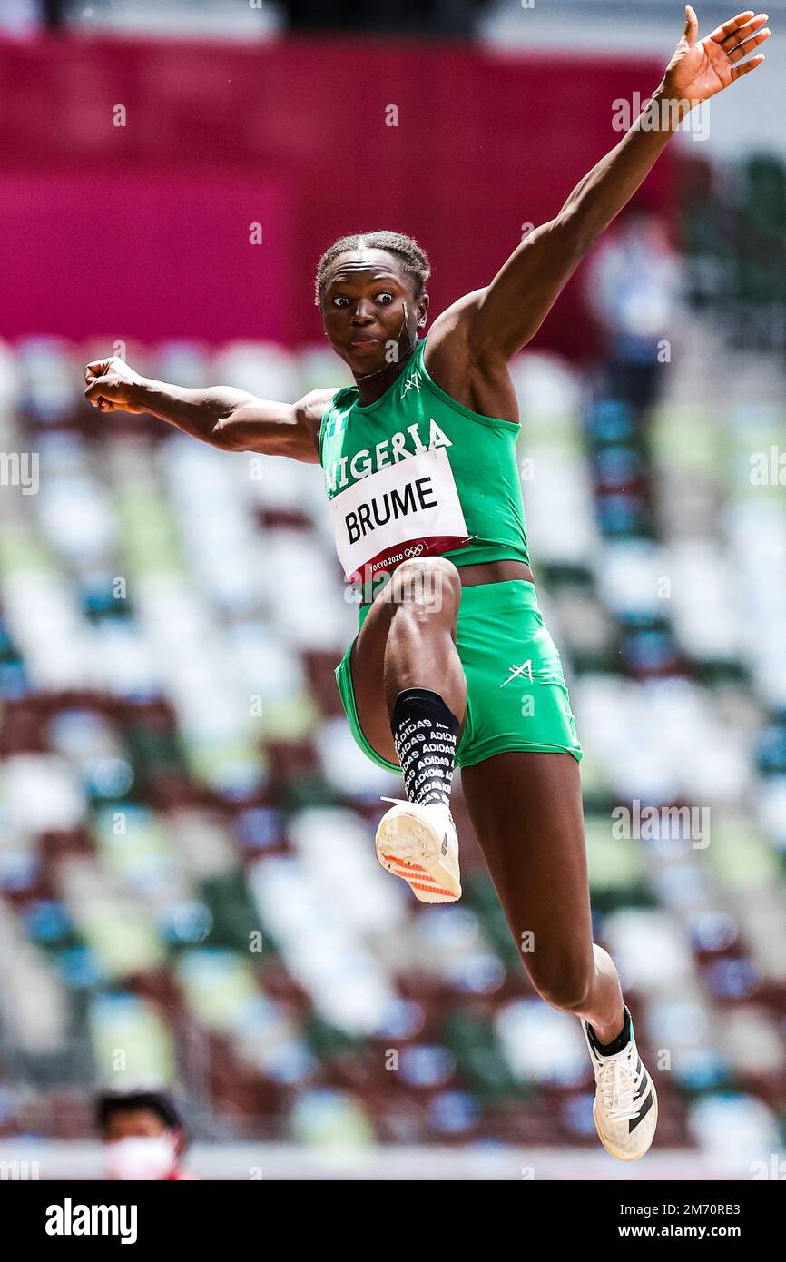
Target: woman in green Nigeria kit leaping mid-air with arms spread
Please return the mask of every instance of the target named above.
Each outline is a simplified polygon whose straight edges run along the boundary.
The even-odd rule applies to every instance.
[[[449,809],[454,765],[492,881],[532,986],[573,1012],[595,1073],[603,1146],[642,1156],[657,1121],[611,957],[592,940],[579,760],[559,652],[540,615],[516,464],[508,360],[544,321],[593,241],[701,101],[763,62],[766,14],[683,37],[619,144],[532,231],[483,289],[428,337],[429,264],[410,237],[342,237],[319,261],[317,303],[356,385],[295,404],[231,387],[185,390],[119,358],[90,363],[87,399],[151,413],[233,452],[320,463],[348,582],[367,597],[336,670],[352,732],[401,771],[406,800],[376,851],[424,902],[460,896]]]

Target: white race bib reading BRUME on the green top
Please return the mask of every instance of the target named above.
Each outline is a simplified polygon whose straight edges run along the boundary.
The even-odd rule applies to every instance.
[[[347,582],[467,541],[467,522],[444,447],[360,478],[333,496],[331,509]]]

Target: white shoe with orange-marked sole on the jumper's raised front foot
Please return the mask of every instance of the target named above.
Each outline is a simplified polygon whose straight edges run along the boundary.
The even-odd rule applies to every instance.
[[[455,902],[462,896],[458,834],[450,808],[425,806],[399,798],[377,828],[375,847],[384,868],[409,883],[420,902]]]

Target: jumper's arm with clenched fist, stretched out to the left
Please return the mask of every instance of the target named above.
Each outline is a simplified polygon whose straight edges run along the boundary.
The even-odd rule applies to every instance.
[[[232,386],[187,390],[141,377],[117,356],[85,369],[86,399],[101,411],[150,413],[225,452],[260,452],[319,462],[322,414],[333,390],[312,390],[298,403],[257,399]]]

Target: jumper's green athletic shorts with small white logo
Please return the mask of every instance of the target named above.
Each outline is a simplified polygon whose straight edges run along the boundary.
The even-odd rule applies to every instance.
[[[361,608],[360,627],[370,610],[371,604]],[[564,752],[580,761],[561,659],[532,583],[508,579],[463,587],[455,646],[467,678],[467,722],[457,766],[471,767],[508,750]],[[351,652],[352,645],[336,668],[336,681],[352,736],[372,762],[400,774],[400,766],[381,758],[363,736]]]

